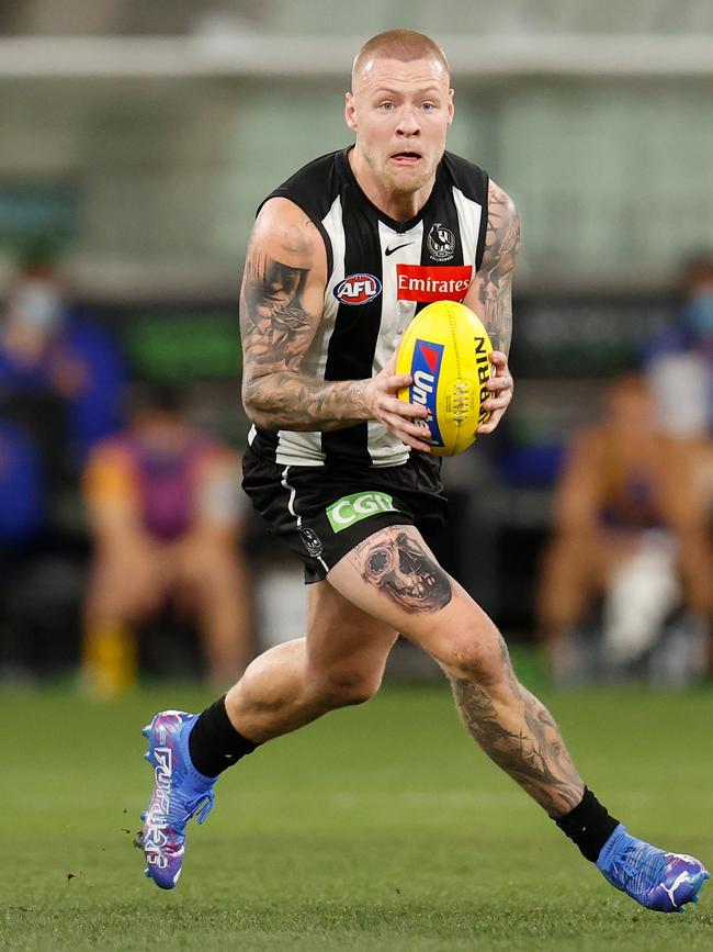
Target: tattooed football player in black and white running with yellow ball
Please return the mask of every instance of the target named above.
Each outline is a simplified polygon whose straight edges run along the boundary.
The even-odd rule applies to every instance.
[[[426,410],[397,399],[410,378],[393,362],[417,310],[440,294],[488,328],[490,416],[479,433],[512,399],[518,215],[480,168],[445,150],[453,110],[432,40],[407,30],[373,37],[346,99],[355,144],[310,163],[259,210],[240,306],[254,424],[244,485],[304,563],[308,630],[259,657],[202,714],[162,712],[145,729],[155,766],[147,875],[173,887],[186,822],[205,818],[223,771],[370,698],[403,632],[450,679],[476,743],[581,853],[644,906],[676,911],[695,899],[703,864],[636,839],[598,802],[554,718],[516,677],[495,624],[429,548],[446,503]]]

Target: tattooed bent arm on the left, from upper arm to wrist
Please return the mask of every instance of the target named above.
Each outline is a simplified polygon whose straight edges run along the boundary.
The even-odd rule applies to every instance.
[[[297,267],[260,249],[246,265],[240,331],[244,348],[242,399],[259,426],[271,429],[328,430],[369,418],[363,381],[325,383],[301,373],[321,314],[304,304],[310,249],[293,229],[283,239],[284,256]]]

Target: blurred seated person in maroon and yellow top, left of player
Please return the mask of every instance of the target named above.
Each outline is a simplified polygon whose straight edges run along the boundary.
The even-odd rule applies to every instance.
[[[127,430],[100,443],[83,479],[94,561],[83,673],[99,695],[136,674],[131,627],[167,603],[196,619],[215,683],[250,658],[240,556],[239,459],[184,419],[179,391],[150,388]]]

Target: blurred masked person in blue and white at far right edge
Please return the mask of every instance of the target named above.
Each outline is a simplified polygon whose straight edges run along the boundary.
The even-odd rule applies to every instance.
[[[653,335],[644,366],[663,430],[671,437],[713,435],[713,258],[683,271],[675,324]]]

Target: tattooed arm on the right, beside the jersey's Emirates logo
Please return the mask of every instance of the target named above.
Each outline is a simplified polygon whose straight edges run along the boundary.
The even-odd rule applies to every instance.
[[[512,275],[520,249],[520,219],[514,205],[493,182],[488,225],[478,272],[478,303],[496,350],[508,352],[512,337]]]

